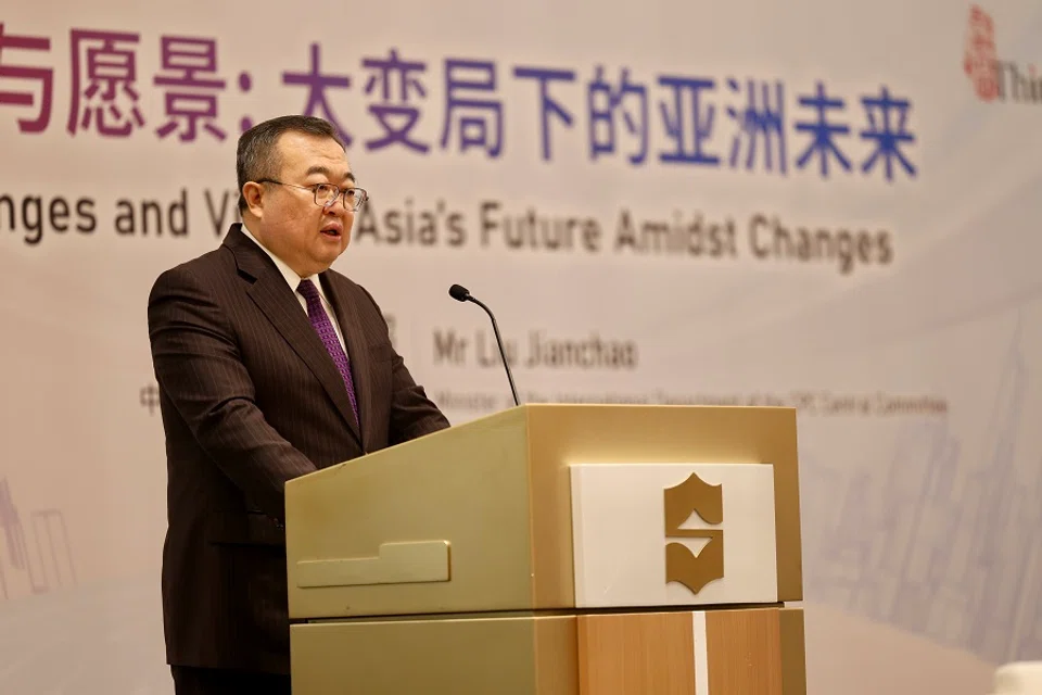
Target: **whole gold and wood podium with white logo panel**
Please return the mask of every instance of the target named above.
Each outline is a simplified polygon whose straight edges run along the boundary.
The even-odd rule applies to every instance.
[[[290,481],[294,695],[803,695],[791,408],[524,405]]]

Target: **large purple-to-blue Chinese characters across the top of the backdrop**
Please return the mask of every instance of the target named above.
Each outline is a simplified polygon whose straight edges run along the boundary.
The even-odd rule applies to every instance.
[[[45,131],[54,112],[54,41],[13,33],[0,23],[0,117],[14,113],[26,135]],[[142,76],[137,55],[157,50],[160,71]],[[154,48],[129,31],[69,31],[71,93],[66,130],[161,140],[224,141],[231,127],[221,93],[233,84],[249,92],[253,77],[221,72],[217,39],[161,36]],[[588,76],[566,66],[504,66],[493,60],[445,58],[439,63],[398,48],[361,56],[356,66],[322,60],[312,43],[301,64],[279,75],[300,113],[334,124],[348,147],[399,148],[417,156],[437,149],[498,159],[507,152],[501,97],[505,79],[530,97],[512,104],[512,117],[538,128],[537,155],[551,161],[555,143],[582,138],[592,162],[618,159],[632,166],[657,163],[828,179],[861,175],[886,181],[914,179],[912,102],[886,85],[848,94],[823,80],[798,85],[758,77],[661,74],[638,78],[627,67],[612,74],[596,65]],[[2,79],[7,78],[7,79]],[[162,112],[147,115],[142,89],[160,90]],[[524,93],[524,90],[522,90]],[[347,127],[338,106],[358,100],[370,118]],[[427,141],[420,124],[435,122]],[[2,121],[0,121],[2,123]],[[243,115],[239,131],[252,121]],[[663,144],[653,147],[652,141]]]

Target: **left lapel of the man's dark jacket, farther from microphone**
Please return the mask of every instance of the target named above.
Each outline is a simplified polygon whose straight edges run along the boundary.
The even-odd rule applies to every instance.
[[[360,430],[355,422],[344,380],[285,278],[264,251],[239,231],[238,226],[228,233],[225,243],[234,253],[239,269],[254,278],[247,291],[250,298],[322,384],[360,444]]]

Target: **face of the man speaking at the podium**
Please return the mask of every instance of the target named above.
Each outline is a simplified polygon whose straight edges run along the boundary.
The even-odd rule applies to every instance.
[[[315,204],[314,190],[294,186],[332,184],[353,187],[347,155],[335,140],[303,132],[284,132],[277,148],[282,167],[277,178],[290,186],[264,184],[250,206],[257,217],[257,239],[301,277],[321,273],[347,249],[355,213],[344,208],[343,195],[332,205]]]

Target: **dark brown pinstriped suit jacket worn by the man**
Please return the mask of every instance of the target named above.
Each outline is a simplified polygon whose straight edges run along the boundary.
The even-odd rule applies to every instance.
[[[320,278],[351,357],[360,426],[298,300],[239,225],[152,288],[170,664],[289,672],[284,482],[448,427],[392,348],[372,296],[332,270]]]

